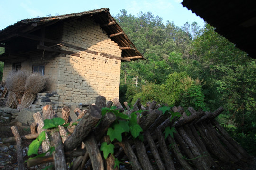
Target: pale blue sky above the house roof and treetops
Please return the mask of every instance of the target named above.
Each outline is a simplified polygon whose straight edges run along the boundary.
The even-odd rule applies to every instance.
[[[0,30],[22,19],[46,17],[58,14],[77,13],[88,10],[109,8],[112,16],[125,9],[128,14],[137,16],[138,13],[152,12],[154,16],[166,21],[174,21],[182,26],[186,21],[190,24],[196,21],[201,27],[203,19],[193,14],[181,4],[183,0],[1,0]]]

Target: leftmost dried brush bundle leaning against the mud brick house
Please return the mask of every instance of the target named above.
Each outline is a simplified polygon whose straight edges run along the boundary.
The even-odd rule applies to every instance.
[[[25,84],[29,73],[27,71],[12,71],[6,79],[6,88],[8,96],[5,101],[5,106],[16,108],[21,101],[22,95],[25,92]]]

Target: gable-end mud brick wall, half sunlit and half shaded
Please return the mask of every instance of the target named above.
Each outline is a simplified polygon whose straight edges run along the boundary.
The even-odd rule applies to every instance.
[[[73,20],[64,23],[63,42],[96,52],[121,57],[117,43],[108,38],[97,23]],[[63,105],[88,105],[103,95],[107,100],[119,97],[121,61],[63,47],[80,53],[80,57],[60,57],[60,78],[57,83],[59,102]]]

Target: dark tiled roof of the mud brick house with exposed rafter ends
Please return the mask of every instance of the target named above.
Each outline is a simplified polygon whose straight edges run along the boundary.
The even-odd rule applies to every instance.
[[[9,41],[10,38],[17,36],[17,33],[26,33],[29,29],[29,26],[47,26],[51,24],[55,24],[57,22],[62,22],[68,19],[76,19],[80,17],[90,17],[95,22],[99,23],[100,25],[104,25],[107,23],[110,23],[112,21],[115,22],[115,19],[110,15],[108,8],[101,8],[97,10],[91,10],[86,12],[80,12],[80,13],[72,13],[72,14],[65,14],[65,15],[59,15],[59,16],[51,16],[51,17],[40,17],[40,18],[32,18],[32,19],[24,19],[21,21],[18,21],[17,23],[8,26],[7,28],[0,31],[0,43],[5,43],[6,41]],[[118,23],[115,23],[110,26],[104,26],[102,29],[108,34],[116,34],[123,32],[122,28],[118,25]],[[130,47],[130,49],[122,50],[122,57],[134,57],[131,60],[137,60],[137,59],[144,59],[142,54],[137,50],[137,48],[134,46],[134,44],[129,40],[128,36],[126,34],[121,34],[119,36],[113,36],[110,37],[114,42],[116,42],[119,47]],[[139,58],[137,56],[140,56],[142,58]]]

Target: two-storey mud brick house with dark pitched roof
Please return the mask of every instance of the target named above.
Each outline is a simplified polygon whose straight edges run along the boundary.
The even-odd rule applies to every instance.
[[[50,93],[34,104],[54,107],[118,97],[121,61],[144,59],[108,8],[21,20],[0,31],[0,46],[3,81],[12,70],[41,72]]]

